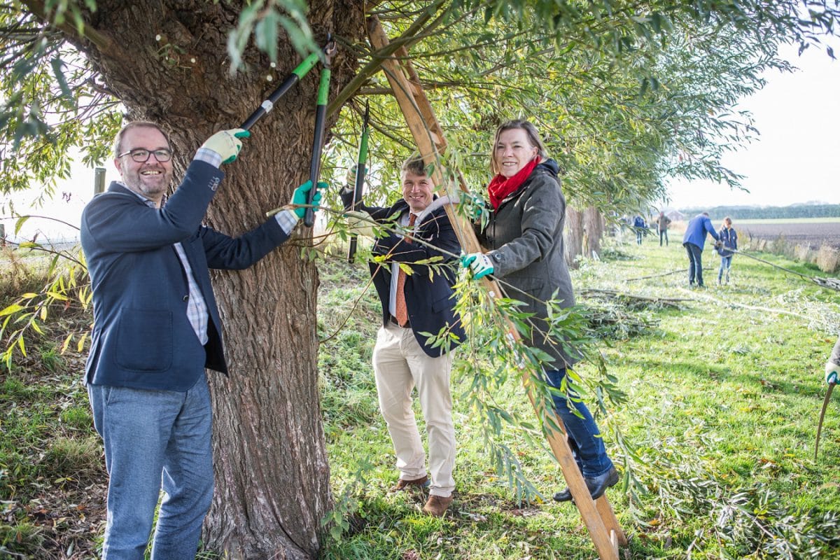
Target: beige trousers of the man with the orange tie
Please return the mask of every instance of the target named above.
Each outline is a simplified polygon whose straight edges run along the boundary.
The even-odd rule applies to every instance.
[[[411,328],[389,322],[376,334],[373,369],[379,408],[391,434],[400,478],[419,479],[427,474],[426,453],[412,411],[412,389],[417,387],[428,433],[429,494],[451,495],[455,488],[451,353],[432,358],[420,348]]]

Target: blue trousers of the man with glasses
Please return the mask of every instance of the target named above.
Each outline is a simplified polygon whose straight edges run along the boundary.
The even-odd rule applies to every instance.
[[[103,560],[143,560],[161,486],[153,560],[192,560],[213,499],[212,411],[202,375],[186,393],[88,385],[105,446]]]

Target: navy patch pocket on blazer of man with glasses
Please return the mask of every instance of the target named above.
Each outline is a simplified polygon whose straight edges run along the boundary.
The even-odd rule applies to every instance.
[[[172,312],[123,309],[117,327],[117,365],[162,372],[172,366]]]

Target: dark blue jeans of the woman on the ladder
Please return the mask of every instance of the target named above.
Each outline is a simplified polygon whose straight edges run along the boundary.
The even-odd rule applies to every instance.
[[[560,383],[566,374],[565,369],[554,369],[545,372],[549,385],[559,389]],[[575,456],[580,472],[588,478],[594,478],[606,473],[612,468],[612,461],[606,456],[604,438],[592,418],[592,414],[582,402],[570,403],[564,395],[552,395],[554,400],[554,411],[563,421],[568,435],[569,446],[572,448],[572,455]],[[575,406],[583,416],[576,416],[569,405]]]

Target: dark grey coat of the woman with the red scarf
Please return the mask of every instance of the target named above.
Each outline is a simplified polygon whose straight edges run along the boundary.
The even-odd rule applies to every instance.
[[[562,307],[575,305],[563,249],[566,201],[558,170],[554,160],[537,165],[522,186],[491,212],[487,227],[476,232],[480,243],[490,249],[487,255],[493,263],[493,275],[517,288],[502,285],[502,289],[508,297],[525,304],[522,311],[536,313],[533,322],[543,333],[548,311],[541,301],[550,300],[556,290]],[[574,350],[562,348],[559,341],[547,340],[540,332],[533,332],[525,342],[554,358],[546,369],[561,369],[579,361]]]

